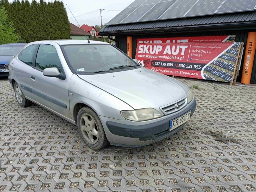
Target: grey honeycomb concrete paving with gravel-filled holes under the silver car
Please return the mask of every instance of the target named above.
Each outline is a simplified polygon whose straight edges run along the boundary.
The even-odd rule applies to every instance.
[[[0,79],[0,191],[255,191],[256,89],[178,80],[197,100],[181,131],[98,151],[55,114],[19,107]]]

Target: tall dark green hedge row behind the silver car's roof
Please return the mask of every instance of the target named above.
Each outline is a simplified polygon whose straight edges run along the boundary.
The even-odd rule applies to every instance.
[[[63,2],[37,2],[33,0],[0,0],[15,32],[26,42],[50,39],[69,39],[70,24]]]

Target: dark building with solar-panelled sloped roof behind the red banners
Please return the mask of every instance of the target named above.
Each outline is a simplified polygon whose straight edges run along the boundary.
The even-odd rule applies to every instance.
[[[123,52],[131,50],[130,55],[135,58],[139,41],[226,36],[229,41],[244,42],[246,47],[253,32],[256,32],[256,0],[134,0],[105,24],[99,34],[115,40]],[[245,52],[244,49],[241,70]],[[256,84],[256,56],[253,63],[250,83]],[[237,82],[241,76],[242,72]]]

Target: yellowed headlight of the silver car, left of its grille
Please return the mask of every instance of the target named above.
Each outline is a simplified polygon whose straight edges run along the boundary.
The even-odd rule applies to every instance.
[[[161,113],[153,108],[144,108],[138,110],[123,110],[121,115],[132,121],[145,121],[161,117]]]

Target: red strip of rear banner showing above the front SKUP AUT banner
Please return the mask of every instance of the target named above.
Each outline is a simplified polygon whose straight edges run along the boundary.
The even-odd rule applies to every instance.
[[[186,42],[234,42],[235,35],[226,36],[196,36],[175,38],[138,38],[137,44],[147,43],[186,43]]]

